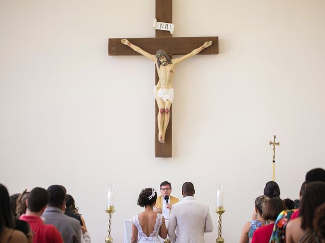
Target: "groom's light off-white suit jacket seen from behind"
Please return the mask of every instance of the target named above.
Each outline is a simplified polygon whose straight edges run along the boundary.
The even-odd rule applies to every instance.
[[[207,205],[192,196],[186,196],[173,205],[168,224],[168,235],[172,243],[204,243],[204,233],[212,230],[213,224]]]

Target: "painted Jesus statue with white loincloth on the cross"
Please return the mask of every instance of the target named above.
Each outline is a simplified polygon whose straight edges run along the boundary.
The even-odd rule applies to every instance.
[[[133,45],[127,39],[121,39],[121,43],[154,61],[156,64],[159,81],[154,87],[153,92],[159,108],[157,116],[159,131],[158,139],[160,143],[165,143],[165,134],[169,123],[169,109],[174,99],[173,79],[175,65],[186,60],[187,58],[199,54],[203,49],[211,46],[212,42],[206,42],[203,44],[203,46],[191,51],[190,53],[179,58],[173,58],[172,60],[164,50],[158,50],[156,54],[153,55],[142,50],[140,47]]]

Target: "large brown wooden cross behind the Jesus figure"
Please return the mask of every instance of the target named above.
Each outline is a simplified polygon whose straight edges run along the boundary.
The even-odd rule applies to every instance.
[[[156,0],[156,20],[159,22],[172,23],[172,0]],[[206,42],[210,41],[212,41],[211,47],[207,49],[202,48],[203,44],[207,46],[208,44],[206,44]],[[128,38],[127,40],[122,38],[109,38],[108,55],[144,55],[143,53],[134,51],[134,48],[129,48],[131,47],[129,43],[139,47],[142,51],[145,50],[147,54],[154,54],[158,49],[163,49],[169,55],[170,59],[172,55],[186,55],[195,49],[200,49],[200,47],[202,50],[200,49],[199,53],[196,54],[218,54],[217,36],[172,37],[170,32],[155,30],[154,38]],[[158,53],[156,57],[159,58],[159,55]],[[157,85],[158,82],[159,76],[155,68],[155,85]],[[164,134],[164,139],[158,129],[158,117],[161,109],[159,110],[157,103],[155,105],[155,110],[155,157],[172,157],[172,109],[171,107],[168,109],[169,124]]]

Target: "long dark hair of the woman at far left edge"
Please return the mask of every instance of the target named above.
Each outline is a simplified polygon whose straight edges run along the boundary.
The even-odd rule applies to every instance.
[[[11,213],[8,190],[3,184],[0,184],[0,235],[5,227],[13,228],[14,219]]]

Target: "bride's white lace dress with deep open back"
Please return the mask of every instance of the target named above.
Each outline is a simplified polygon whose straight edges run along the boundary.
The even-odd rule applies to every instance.
[[[160,243],[160,240],[158,238],[159,235],[159,229],[161,224],[163,224],[163,215],[157,214],[156,223],[154,225],[154,229],[152,233],[147,236],[143,233],[142,227],[140,225],[140,221],[138,219],[138,215],[133,217],[132,223],[137,227],[138,229],[138,243]]]

